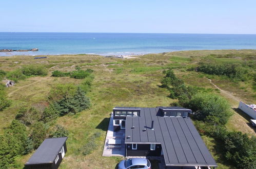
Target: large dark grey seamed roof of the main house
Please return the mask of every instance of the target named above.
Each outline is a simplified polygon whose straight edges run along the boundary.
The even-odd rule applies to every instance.
[[[126,117],[125,143],[161,143],[168,166],[217,166],[189,117],[157,116],[159,109],[141,108],[140,117]]]

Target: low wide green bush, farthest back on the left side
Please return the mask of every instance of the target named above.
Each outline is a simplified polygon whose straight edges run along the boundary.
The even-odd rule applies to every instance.
[[[26,76],[46,76],[48,71],[43,66],[27,65],[22,67],[22,73]]]

